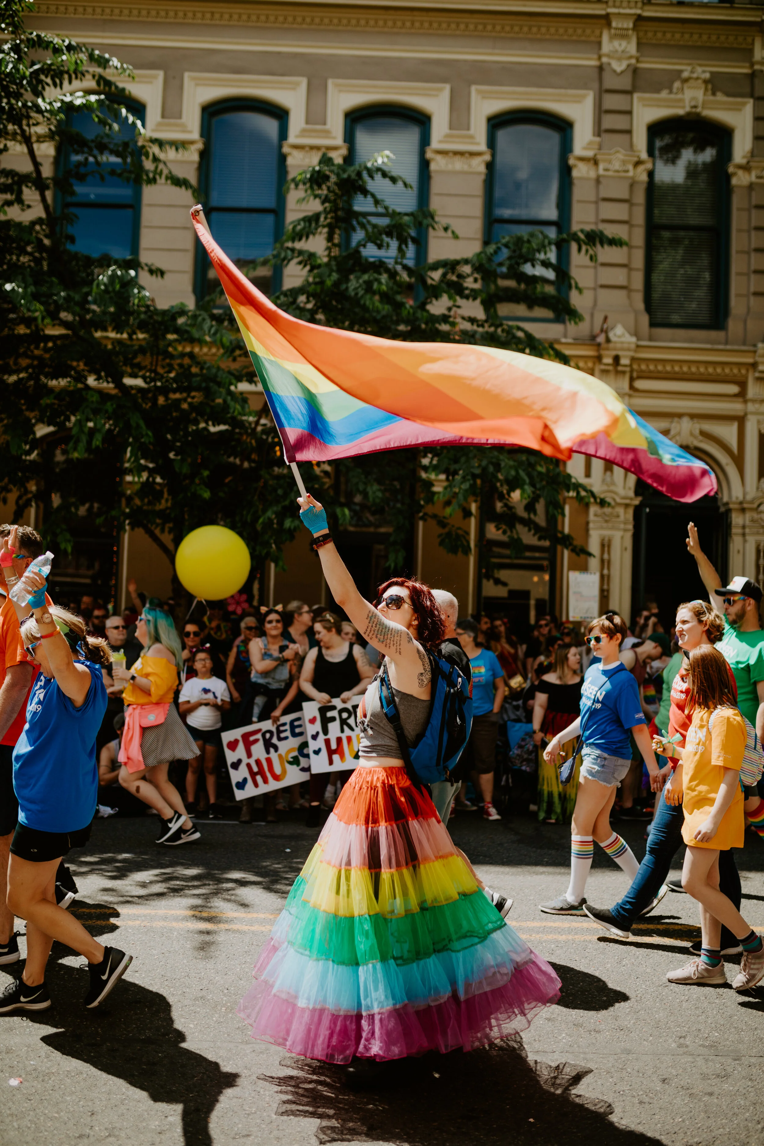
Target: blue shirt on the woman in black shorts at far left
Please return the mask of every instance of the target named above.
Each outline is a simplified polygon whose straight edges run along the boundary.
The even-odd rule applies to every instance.
[[[77,832],[87,827],[95,813],[95,738],[108,697],[101,666],[87,660],[79,664],[92,677],[84,704],[76,708],[57,682],[40,673],[14,748],[18,822],[41,832]]]

